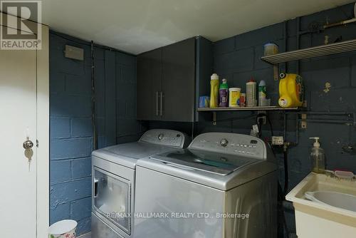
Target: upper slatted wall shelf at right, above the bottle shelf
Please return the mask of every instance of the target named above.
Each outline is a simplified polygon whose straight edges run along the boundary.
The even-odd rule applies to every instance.
[[[299,61],[305,58],[314,58],[319,56],[328,56],[335,53],[343,53],[348,51],[356,51],[356,39],[351,41],[342,41],[338,43],[330,43],[323,46],[315,46],[311,48],[303,48],[297,51],[288,51],[277,53],[273,56],[263,56],[262,61],[276,65],[278,63],[286,63],[289,61]]]

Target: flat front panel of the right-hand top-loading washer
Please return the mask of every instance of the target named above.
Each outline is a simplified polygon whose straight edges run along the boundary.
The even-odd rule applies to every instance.
[[[135,238],[221,238],[225,192],[136,167]]]

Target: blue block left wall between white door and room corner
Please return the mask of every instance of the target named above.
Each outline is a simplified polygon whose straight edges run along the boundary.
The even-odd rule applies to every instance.
[[[64,57],[66,44],[84,49],[84,61]],[[98,147],[137,140],[136,57],[95,46]],[[50,33],[50,223],[75,219],[90,232],[93,150],[90,44]]]

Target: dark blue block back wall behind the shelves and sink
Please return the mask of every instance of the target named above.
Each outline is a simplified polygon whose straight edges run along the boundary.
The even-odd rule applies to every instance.
[[[300,31],[308,31],[312,24],[323,26],[353,17],[353,4],[303,16],[300,18]],[[263,45],[275,42],[280,51],[292,51],[297,48],[297,19],[275,24],[263,29],[243,33],[214,43],[214,72],[220,78],[226,78],[230,87],[241,87],[246,91],[246,81],[253,76],[256,81],[267,83],[268,98],[274,105],[278,102],[278,83],[273,80],[273,68],[260,60]],[[300,48],[318,46],[329,36],[330,43],[342,36],[342,40],[356,38],[356,24],[338,26],[320,33],[305,33],[300,36]],[[287,68],[286,68],[287,67]],[[281,71],[297,73],[297,63],[281,65]],[[300,61],[300,74],[305,80],[305,98],[311,112],[356,112],[356,53],[343,53],[334,56],[318,57]],[[325,83],[331,83],[328,93],[324,92]],[[209,86],[209,78],[206,78]],[[286,127],[281,113],[269,113],[275,135],[283,135],[286,128],[287,141],[296,142],[295,115],[287,116]],[[337,120],[337,116],[308,115],[308,118]],[[255,113],[218,113],[217,124],[212,125],[210,113],[199,113],[199,123],[194,125],[194,135],[205,132],[250,133],[256,124]],[[298,145],[288,150],[290,188],[300,182],[310,172],[310,148],[313,145],[309,137],[319,136],[327,155],[327,168],[352,170],[356,172],[355,155],[342,150],[345,145],[356,144],[355,127],[345,124],[308,123],[306,129],[300,129]],[[191,123],[150,122],[150,128],[174,128],[189,135]],[[263,138],[271,135],[268,125],[263,128]],[[280,181],[283,186],[282,150],[276,150],[279,161]],[[295,231],[293,211],[287,212],[290,231]]]

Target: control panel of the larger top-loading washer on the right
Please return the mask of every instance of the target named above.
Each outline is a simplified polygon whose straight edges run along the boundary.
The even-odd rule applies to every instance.
[[[263,140],[251,135],[204,133],[198,135],[189,148],[259,159],[266,158],[266,144]]]

